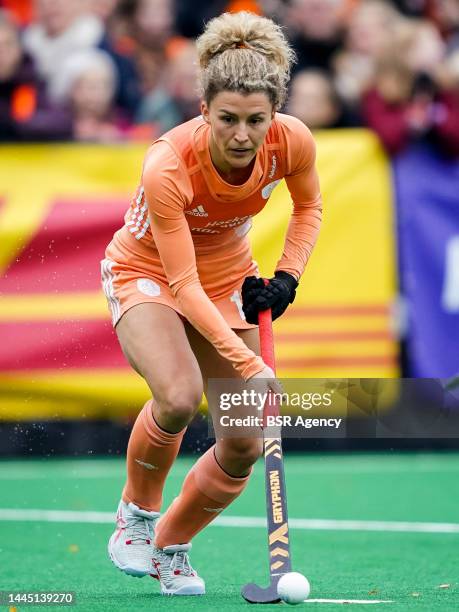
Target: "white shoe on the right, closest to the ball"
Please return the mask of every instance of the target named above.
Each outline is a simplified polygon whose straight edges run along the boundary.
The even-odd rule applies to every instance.
[[[153,567],[163,595],[204,595],[206,585],[190,565],[191,544],[153,547]]]

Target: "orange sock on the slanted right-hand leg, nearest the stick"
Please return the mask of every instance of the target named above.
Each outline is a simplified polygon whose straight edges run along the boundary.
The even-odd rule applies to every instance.
[[[214,450],[215,446],[209,448],[191,468],[180,495],[158,521],[155,544],[159,548],[188,543],[244,490],[250,474],[229,476],[218,465]]]

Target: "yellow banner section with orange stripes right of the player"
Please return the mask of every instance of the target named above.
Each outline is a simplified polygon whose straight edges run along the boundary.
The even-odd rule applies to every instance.
[[[389,162],[377,139],[364,130],[321,132],[316,141],[323,225],[298,297],[275,323],[279,373],[396,376]],[[255,252],[263,273],[270,273],[282,249],[286,203],[288,192],[281,184],[255,221]]]

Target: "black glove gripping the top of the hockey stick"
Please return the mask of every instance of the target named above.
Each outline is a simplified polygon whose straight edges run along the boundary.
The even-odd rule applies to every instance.
[[[242,284],[242,310],[247,323],[258,325],[258,313],[271,308],[274,321],[293,302],[298,281],[288,272],[275,272],[265,285],[262,278],[248,276]]]

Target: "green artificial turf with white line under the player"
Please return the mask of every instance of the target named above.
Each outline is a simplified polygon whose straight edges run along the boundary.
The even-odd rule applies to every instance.
[[[183,458],[174,466],[166,505],[178,493],[191,463],[191,458]],[[457,454],[287,455],[285,471],[291,518],[459,523]],[[209,526],[195,538],[191,554],[206,580],[206,596],[166,598],[155,580],[125,576],[108,560],[110,523],[1,518],[6,508],[114,513],[123,476],[124,462],[118,459],[0,462],[0,590],[76,593],[74,607],[40,610],[249,609],[240,587],[252,580],[267,583],[263,527]],[[264,516],[263,479],[260,461],[243,496],[223,516]],[[457,532],[292,528],[291,546],[293,569],[308,576],[311,598],[394,602],[347,604],[346,610],[459,610]],[[322,603],[297,606],[342,608]]]

